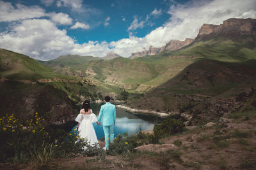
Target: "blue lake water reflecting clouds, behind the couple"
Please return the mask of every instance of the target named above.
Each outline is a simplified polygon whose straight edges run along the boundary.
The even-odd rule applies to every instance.
[[[99,118],[100,104],[93,104],[92,110],[97,118]],[[130,112],[116,108],[116,123],[114,127],[115,136],[118,134],[122,135],[125,132],[128,134],[136,134],[139,132],[140,127],[141,130],[152,130],[154,128],[155,120],[156,117],[154,116],[131,114]],[[104,137],[102,125],[93,123],[93,127],[98,139]]]

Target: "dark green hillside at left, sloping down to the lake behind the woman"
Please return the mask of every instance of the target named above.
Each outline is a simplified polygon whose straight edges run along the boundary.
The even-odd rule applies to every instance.
[[[20,118],[35,112],[49,121],[67,121],[83,100],[102,99],[102,91],[89,79],[60,75],[28,56],[0,50],[0,114]]]

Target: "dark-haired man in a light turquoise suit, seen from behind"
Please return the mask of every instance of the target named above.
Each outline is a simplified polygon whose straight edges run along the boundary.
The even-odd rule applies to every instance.
[[[98,122],[101,123],[102,119],[102,127],[105,134],[105,147],[104,150],[109,149],[109,141],[113,143],[114,141],[114,125],[116,122],[116,107],[115,105],[111,104],[110,97],[105,97],[106,104],[100,107],[99,112],[99,119]]]

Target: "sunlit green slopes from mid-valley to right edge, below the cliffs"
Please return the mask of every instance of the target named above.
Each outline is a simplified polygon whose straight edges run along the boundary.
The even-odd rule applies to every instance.
[[[91,58],[82,62],[81,56],[65,56],[56,59],[54,65],[52,61],[45,61],[45,64],[62,75],[88,77],[109,92],[116,93],[124,87],[129,92],[145,93],[172,79],[200,58],[232,63],[256,59],[256,38],[216,36],[198,39],[176,51],[167,50],[137,59],[120,57],[100,61]]]

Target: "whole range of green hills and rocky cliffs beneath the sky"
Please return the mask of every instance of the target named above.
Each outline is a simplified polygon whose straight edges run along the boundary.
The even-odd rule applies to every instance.
[[[70,103],[79,103],[84,97],[97,100],[104,94],[122,100],[126,94],[129,107],[177,112],[189,123],[197,124],[217,119],[225,112],[255,108],[255,59],[256,19],[228,19],[219,26],[204,24],[195,40],[171,40],[164,47],[150,47],[131,58],[114,53],[106,58],[68,55],[38,63],[2,49],[0,84],[8,90],[1,91],[1,98],[10,102],[16,95],[21,101],[29,88],[27,92],[19,91],[29,81],[36,82],[36,86],[41,83],[41,87],[50,85],[63,94],[59,98],[67,97]],[[20,62],[15,63],[17,60]],[[15,86],[19,90],[8,88],[14,85],[6,82],[19,83],[19,88]],[[28,95],[26,100],[35,100],[35,95],[30,99]],[[47,101],[43,103],[47,105]],[[74,109],[74,104],[67,107],[71,105]],[[15,105],[0,107],[2,112],[10,112],[8,108]]]

